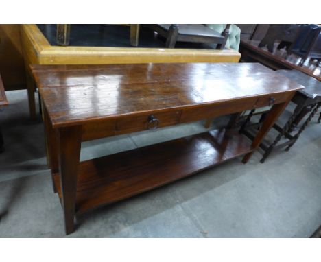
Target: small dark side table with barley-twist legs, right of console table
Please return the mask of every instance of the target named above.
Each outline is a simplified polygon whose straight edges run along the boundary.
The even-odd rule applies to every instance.
[[[321,106],[320,81],[298,70],[278,70],[276,73],[278,73],[278,75],[285,75],[287,78],[297,82],[298,84],[302,84],[305,86],[305,88],[297,91],[296,95],[294,95],[292,98],[292,102],[296,104],[296,108],[291,117],[289,117],[287,123],[285,123],[283,127],[274,124],[274,128],[278,131],[278,135],[274,141],[272,143],[268,143],[267,141],[263,141],[261,143],[260,147],[263,150],[263,158],[261,159],[261,163],[264,163],[266,158],[268,158],[273,150],[286,147],[285,150],[288,151],[292,145],[296,143],[300,134],[305,130]],[[302,119],[304,119],[309,112],[309,117],[307,117],[300,128],[298,128]],[[252,114],[253,113],[254,111]],[[252,115],[248,117],[248,119],[246,119],[246,123],[243,124],[243,133],[253,139],[255,136],[255,132],[253,131],[257,129],[257,126],[260,123],[249,125],[248,123],[250,122],[251,117]],[[264,118],[265,117],[263,115],[260,120],[263,120]],[[321,113],[320,117],[318,118],[318,123],[320,123],[320,120]],[[248,127],[246,128],[246,126]],[[285,139],[285,142],[280,143],[281,139]]]

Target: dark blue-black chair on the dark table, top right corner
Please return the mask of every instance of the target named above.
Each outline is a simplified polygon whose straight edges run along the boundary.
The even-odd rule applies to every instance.
[[[320,25],[301,25],[296,34],[296,38],[289,48],[289,53],[295,53],[304,64],[307,58],[314,58],[320,64],[321,59],[321,26]]]

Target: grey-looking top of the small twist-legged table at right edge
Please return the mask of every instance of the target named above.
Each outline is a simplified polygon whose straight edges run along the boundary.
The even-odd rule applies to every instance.
[[[321,97],[321,82],[316,80],[316,78],[312,78],[311,76],[302,73],[296,69],[293,70],[278,70],[277,73],[287,76],[291,80],[294,80],[298,84],[302,84],[305,86],[304,89],[300,90],[299,92],[315,99],[316,97]]]

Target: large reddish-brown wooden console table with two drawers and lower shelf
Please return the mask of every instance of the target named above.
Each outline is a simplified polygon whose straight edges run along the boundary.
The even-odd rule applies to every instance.
[[[261,64],[36,65],[53,187],[74,216],[237,156],[246,163],[303,88]],[[82,141],[271,105],[253,142],[229,128],[80,162]]]

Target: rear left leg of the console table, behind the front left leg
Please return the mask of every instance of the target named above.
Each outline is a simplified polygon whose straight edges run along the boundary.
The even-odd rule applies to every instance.
[[[55,183],[53,182],[53,174],[59,171],[58,162],[58,132],[53,129],[49,120],[49,115],[45,106],[43,106],[43,123],[45,126],[45,145],[47,153],[47,164],[51,169],[51,179],[53,185],[53,192],[57,193]]]

